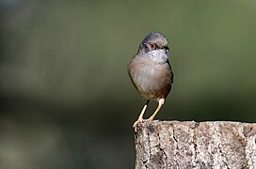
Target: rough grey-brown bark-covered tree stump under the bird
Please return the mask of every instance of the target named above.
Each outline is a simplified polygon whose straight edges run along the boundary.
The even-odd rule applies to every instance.
[[[136,169],[146,168],[256,168],[256,124],[139,123]]]

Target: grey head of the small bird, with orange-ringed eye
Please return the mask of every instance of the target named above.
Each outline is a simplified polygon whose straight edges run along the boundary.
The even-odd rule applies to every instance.
[[[142,40],[137,55],[154,54],[155,51],[161,51],[168,55],[168,39],[159,32],[152,32]]]

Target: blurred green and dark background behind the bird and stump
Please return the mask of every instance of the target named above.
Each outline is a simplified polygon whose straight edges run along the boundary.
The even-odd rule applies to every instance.
[[[152,31],[167,36],[175,73],[157,118],[254,122],[255,8],[0,0],[0,168],[134,168],[132,124],[145,101],[126,65]]]

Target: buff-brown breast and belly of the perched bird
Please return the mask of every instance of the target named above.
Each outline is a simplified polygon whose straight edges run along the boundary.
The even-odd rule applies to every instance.
[[[140,95],[146,100],[166,98],[171,88],[171,69],[168,62],[155,63],[149,58],[134,58],[129,74]]]

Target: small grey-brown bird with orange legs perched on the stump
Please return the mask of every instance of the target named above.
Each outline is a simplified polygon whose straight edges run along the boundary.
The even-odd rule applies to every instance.
[[[173,83],[173,72],[168,62],[168,39],[152,32],[142,40],[137,54],[128,63],[128,73],[140,96],[147,100],[133,127],[142,121],[153,120],[163,106]],[[143,119],[150,100],[158,107],[148,119]]]

